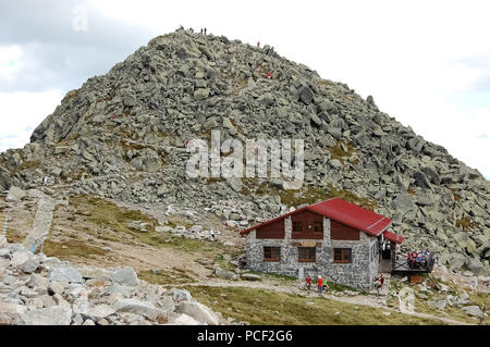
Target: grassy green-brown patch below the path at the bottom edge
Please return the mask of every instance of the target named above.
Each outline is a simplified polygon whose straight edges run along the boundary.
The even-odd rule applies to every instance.
[[[224,318],[257,325],[441,324],[438,320],[397,312],[385,315],[382,309],[362,305],[265,289],[205,286],[187,286],[186,289],[199,302],[221,312]]]

